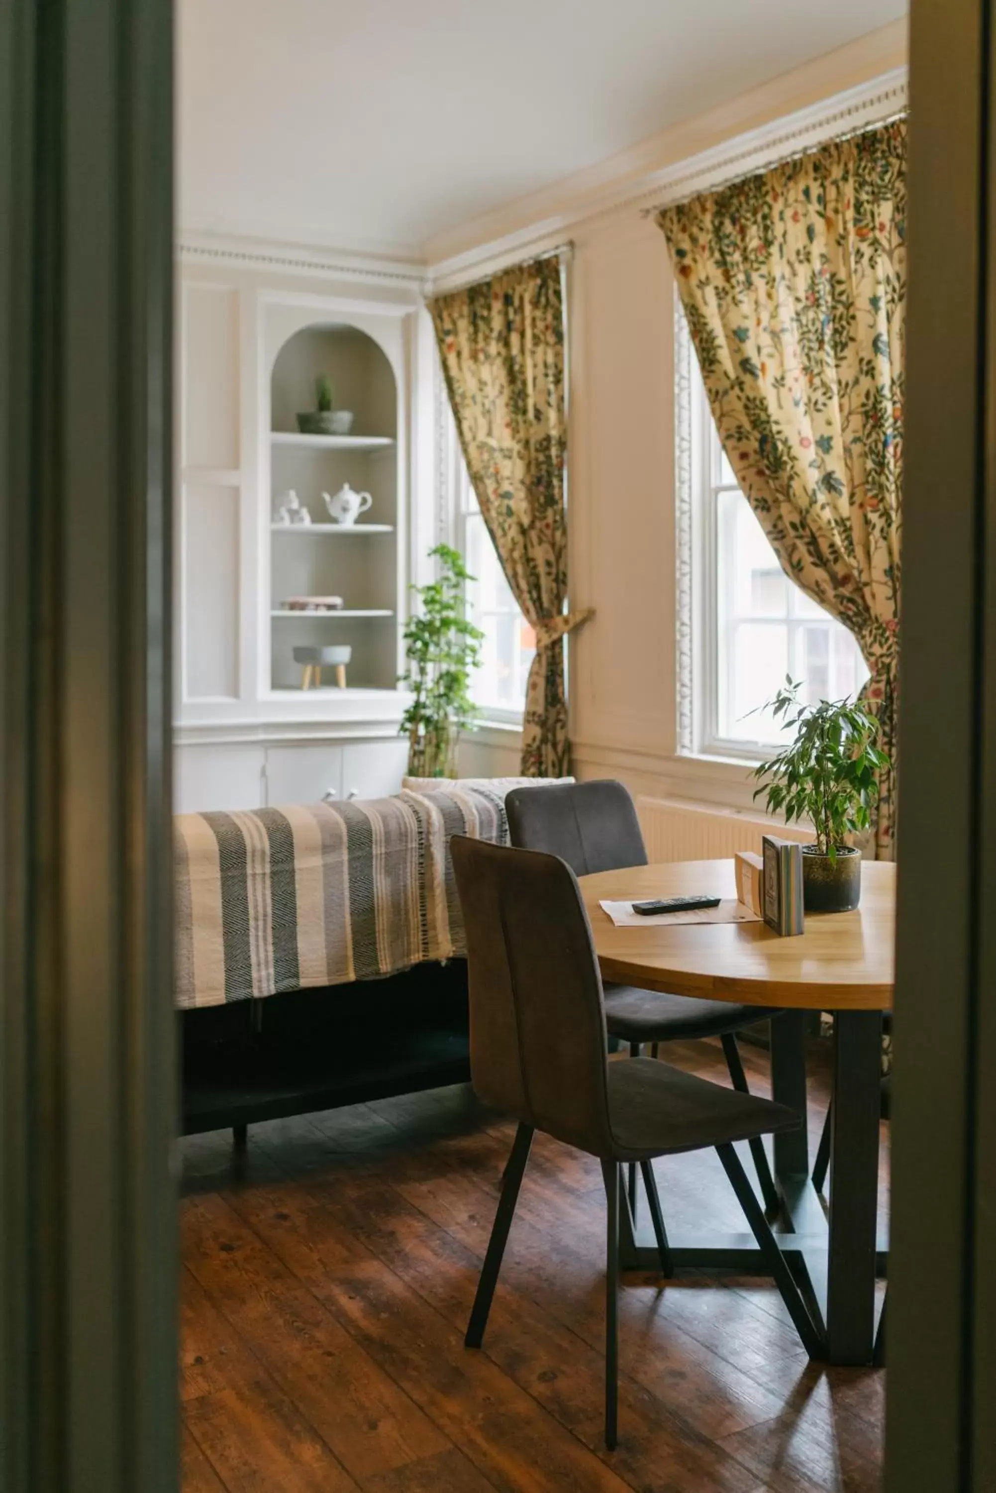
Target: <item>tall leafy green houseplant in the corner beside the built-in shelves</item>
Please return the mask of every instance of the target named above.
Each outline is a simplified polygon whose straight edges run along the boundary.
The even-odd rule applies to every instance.
[[[408,667],[402,675],[412,703],[402,717],[402,730],[408,735],[411,776],[452,778],[460,732],[475,717],[469,687],[481,663],[484,633],[466,617],[464,587],[475,578],[463,557],[449,545],[436,545],[429,555],[439,561],[439,576],[412,587],[418,612],[405,626]]]

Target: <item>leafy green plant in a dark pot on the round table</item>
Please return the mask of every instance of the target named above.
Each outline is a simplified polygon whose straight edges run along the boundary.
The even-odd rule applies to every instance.
[[[862,896],[862,855],[848,835],[871,826],[878,800],[878,773],[890,766],[878,746],[878,721],[856,700],[803,705],[797,682],[785,684],[769,709],[793,730],[794,741],[754,769],[768,779],[754,791],[766,796],[769,814],[787,824],[809,821],[815,842],[802,847],[802,894],[806,912],[850,912]]]

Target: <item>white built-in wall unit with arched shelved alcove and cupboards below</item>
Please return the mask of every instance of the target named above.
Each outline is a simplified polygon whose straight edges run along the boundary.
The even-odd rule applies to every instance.
[[[409,566],[435,537],[421,278],[378,269],[351,281],[212,251],[184,263],[181,311],[176,808],[393,793],[406,755]],[[297,427],[320,373],[354,414],[345,436]],[[354,526],[333,524],[321,496],[345,482],[372,497]],[[309,526],[273,523],[290,488]],[[300,596],[343,606],[284,606]],[[303,690],[296,643],[348,643],[346,688],[327,673]]]

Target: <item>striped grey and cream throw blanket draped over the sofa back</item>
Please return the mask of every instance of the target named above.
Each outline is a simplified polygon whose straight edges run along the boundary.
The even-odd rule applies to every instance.
[[[485,788],[181,814],[176,1005],[394,975],[464,953],[449,836],[503,844]]]

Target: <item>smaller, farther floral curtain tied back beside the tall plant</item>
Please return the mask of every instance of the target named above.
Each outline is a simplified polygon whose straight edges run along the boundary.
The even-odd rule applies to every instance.
[[[457,433],[502,569],[536,632],[526,691],[526,776],[567,772],[564,336],[557,258],[517,264],[429,303]]]

